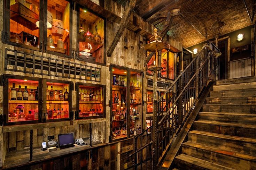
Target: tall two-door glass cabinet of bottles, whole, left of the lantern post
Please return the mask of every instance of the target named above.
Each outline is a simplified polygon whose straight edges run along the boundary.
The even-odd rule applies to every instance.
[[[140,71],[111,66],[111,141],[131,137],[142,129],[142,80]]]

